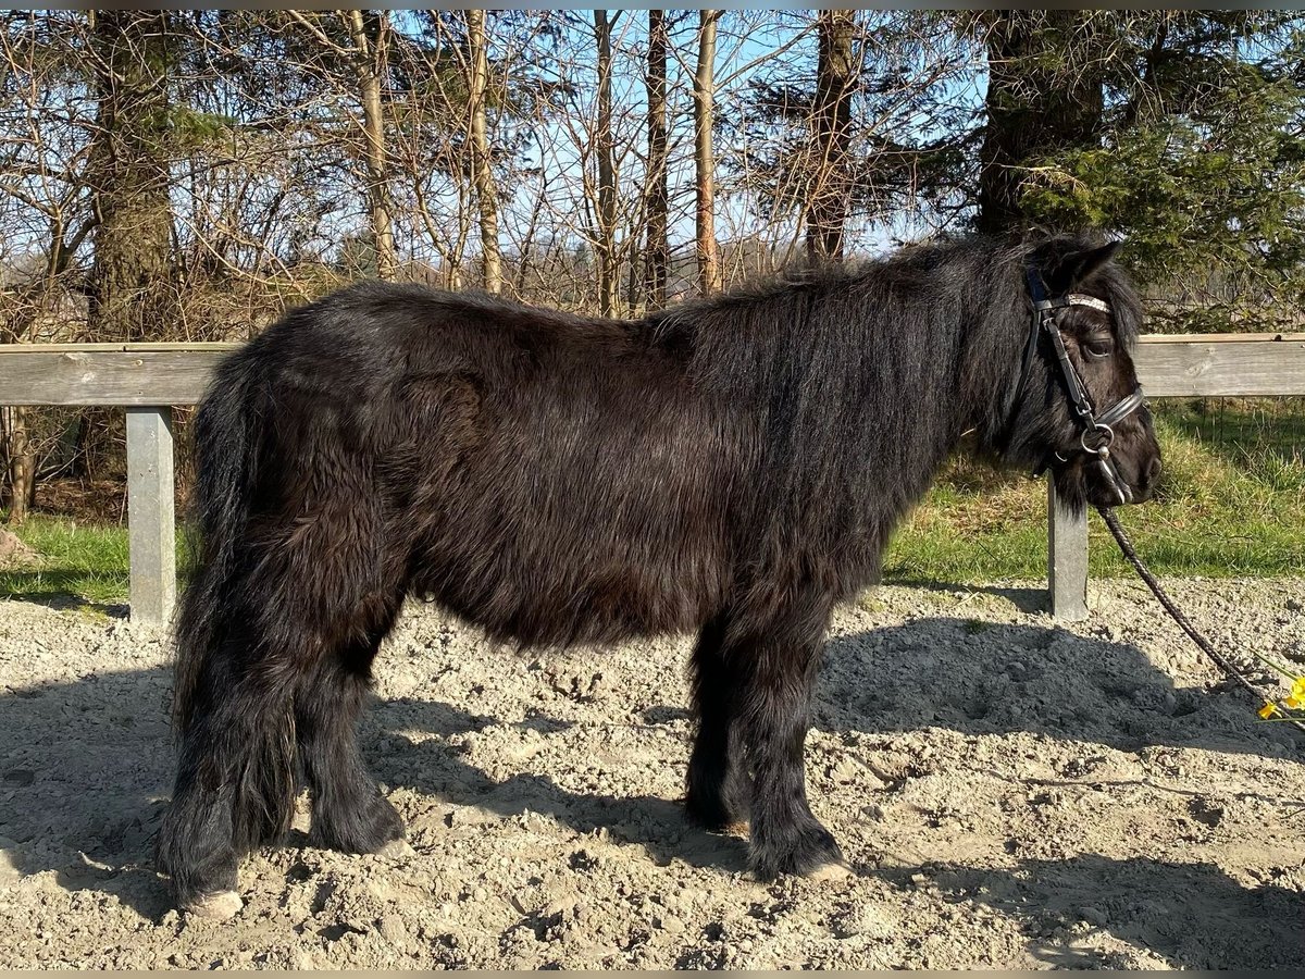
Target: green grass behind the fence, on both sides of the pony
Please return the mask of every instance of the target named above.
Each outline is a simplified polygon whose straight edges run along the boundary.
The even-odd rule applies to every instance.
[[[1160,499],[1122,510],[1158,574],[1305,574],[1305,399],[1160,402],[1165,458]],[[898,530],[883,578],[981,583],[1047,573],[1043,480],[953,459]],[[1129,577],[1105,527],[1090,520],[1096,577]],[[39,553],[0,570],[0,595],[127,600],[127,530],[31,517],[18,536]],[[185,567],[179,542],[177,567]]]

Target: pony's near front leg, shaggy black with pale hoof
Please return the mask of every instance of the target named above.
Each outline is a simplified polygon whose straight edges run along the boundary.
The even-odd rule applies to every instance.
[[[806,801],[803,745],[829,625],[818,597],[763,621],[735,621],[726,657],[739,677],[735,731],[752,768],[749,862],[761,880],[780,873],[840,876],[843,854]]]

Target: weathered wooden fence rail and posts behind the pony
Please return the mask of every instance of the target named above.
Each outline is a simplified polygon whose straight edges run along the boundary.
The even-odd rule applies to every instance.
[[[176,593],[172,412],[204,394],[232,343],[0,345],[0,405],[127,409],[132,617],[163,623]],[[1138,377],[1151,398],[1305,394],[1305,334],[1143,337]],[[1048,483],[1052,614],[1087,616],[1087,516]]]

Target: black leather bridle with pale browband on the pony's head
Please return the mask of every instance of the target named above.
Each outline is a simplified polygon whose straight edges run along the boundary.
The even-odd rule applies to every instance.
[[[1065,339],[1061,337],[1060,325],[1056,322],[1060,311],[1067,309],[1071,305],[1086,305],[1103,313],[1109,313],[1111,307],[1095,296],[1081,295],[1078,292],[1064,292],[1054,299],[1048,299],[1041,273],[1032,265],[1024,272],[1028,279],[1028,295],[1034,303],[1034,326],[1028,333],[1028,343],[1024,347],[1024,362],[1019,371],[1019,384],[1015,386],[1010,418],[1014,418],[1014,411],[1019,410],[1019,398],[1023,396],[1024,385],[1028,382],[1028,372],[1032,368],[1034,358],[1037,355],[1040,339],[1045,334],[1051,339],[1052,351],[1056,354],[1056,363],[1060,365],[1061,380],[1065,382],[1065,393],[1069,396],[1074,415],[1078,419],[1081,428],[1078,444],[1083,453],[1096,457],[1096,465],[1100,467],[1107,483],[1114,489],[1118,501],[1126,504],[1133,499],[1133,491],[1120,476],[1120,471],[1114,467],[1113,459],[1111,459],[1111,445],[1114,443],[1114,426],[1142,407],[1142,385],[1138,385],[1131,394],[1121,398],[1101,414],[1096,414],[1083,379],[1069,359],[1069,351],[1065,350]],[[1069,462],[1069,457],[1058,452],[1049,453],[1034,475],[1040,475],[1057,462]]]

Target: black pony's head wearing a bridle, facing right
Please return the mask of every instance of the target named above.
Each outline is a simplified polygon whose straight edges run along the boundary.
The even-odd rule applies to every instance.
[[[1002,457],[1049,469],[1071,509],[1142,503],[1160,475],[1131,356],[1141,303],[1116,248],[1058,238],[1024,255],[1028,333]]]

